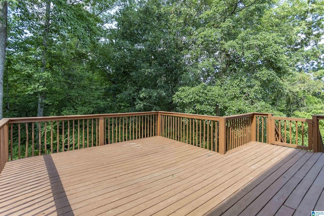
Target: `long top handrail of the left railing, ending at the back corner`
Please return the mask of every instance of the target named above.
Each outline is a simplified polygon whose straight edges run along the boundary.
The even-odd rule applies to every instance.
[[[77,120],[77,119],[91,119],[99,117],[123,117],[123,116],[139,116],[139,115],[153,115],[158,114],[158,111],[149,112],[125,112],[125,113],[107,113],[107,114],[91,114],[91,115],[64,115],[64,116],[43,116],[43,117],[16,117],[8,118],[9,123],[27,123],[39,121],[57,121],[57,120]]]

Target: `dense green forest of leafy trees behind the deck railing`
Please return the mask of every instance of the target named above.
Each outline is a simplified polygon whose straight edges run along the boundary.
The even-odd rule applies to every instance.
[[[323,18],[323,0],[2,0],[3,117],[324,114]]]

